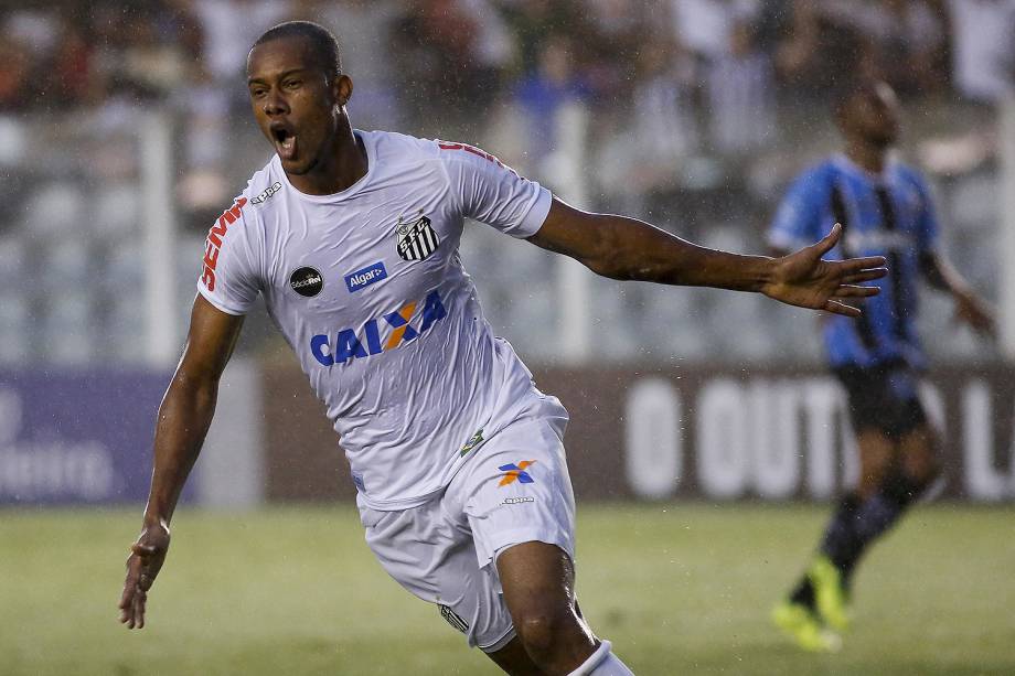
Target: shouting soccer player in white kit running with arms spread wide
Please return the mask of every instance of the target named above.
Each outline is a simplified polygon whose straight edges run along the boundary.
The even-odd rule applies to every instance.
[[[217,382],[260,294],[341,436],[381,565],[510,674],[631,672],[575,602],[567,411],[493,335],[458,254],[463,219],[594,271],[758,291],[855,316],[882,258],[824,261],[838,230],[784,258],[697,247],[556,200],[462,143],[354,130],[338,45],[308,22],[247,61],[276,154],[209,233],[183,356],[159,410],[121,621],[145,624],[169,524]]]

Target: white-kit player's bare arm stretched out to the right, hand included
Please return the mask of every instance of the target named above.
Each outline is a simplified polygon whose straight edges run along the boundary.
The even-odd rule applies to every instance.
[[[742,256],[697,246],[648,223],[577,210],[554,198],[543,227],[528,238],[613,279],[755,291],[791,305],[846,316],[850,299],[878,293],[863,282],[887,273],[885,258],[823,260],[842,236],[836,225],[822,240],[780,258]]]

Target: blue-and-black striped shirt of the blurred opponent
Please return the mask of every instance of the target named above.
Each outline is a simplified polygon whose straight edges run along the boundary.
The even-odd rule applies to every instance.
[[[844,155],[805,171],[790,186],[769,232],[769,244],[795,249],[827,235],[836,223],[843,239],[830,257],[885,256],[889,273],[876,283],[853,320],[831,316],[824,324],[832,366],[923,363],[916,330],[920,257],[937,247],[938,222],[923,179],[898,161],[880,174],[864,171]]]

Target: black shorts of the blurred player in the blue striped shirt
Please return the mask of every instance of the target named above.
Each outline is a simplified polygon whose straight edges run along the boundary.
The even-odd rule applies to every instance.
[[[841,366],[833,371],[846,388],[854,431],[875,429],[899,439],[927,422],[918,391],[919,377],[906,364]]]

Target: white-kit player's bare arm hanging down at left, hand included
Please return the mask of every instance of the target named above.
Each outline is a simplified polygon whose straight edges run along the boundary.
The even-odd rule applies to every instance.
[[[128,629],[145,626],[148,590],[169,549],[169,523],[212,423],[218,379],[242,326],[242,315],[227,314],[200,294],[194,300],[183,357],[159,407],[154,471],[141,534],[127,558],[119,608],[120,622]]]

